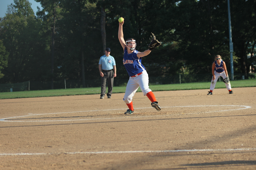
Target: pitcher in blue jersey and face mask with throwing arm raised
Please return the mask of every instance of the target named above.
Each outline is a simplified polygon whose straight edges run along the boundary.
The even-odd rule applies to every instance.
[[[123,98],[123,101],[127,104],[129,109],[124,114],[129,115],[134,113],[132,99],[139,87],[143,92],[143,95],[147,96],[151,101],[151,106],[156,108],[157,111],[160,111],[161,108],[158,105],[156,97],[152,92],[152,90],[149,89],[148,73],[145,70],[145,67],[141,63],[141,58],[148,55],[151,52],[151,50],[154,50],[155,47],[160,46],[161,43],[155,39],[155,36],[153,34],[152,39],[154,39],[154,42],[153,40],[151,41],[151,43],[149,44],[149,49],[145,50],[144,52],[138,52],[137,50],[135,50],[135,47],[136,47],[135,39],[129,38],[126,41],[124,40],[123,24],[124,24],[124,21],[122,21],[122,23],[119,22],[118,39],[124,50],[123,65],[127,70],[128,75],[130,76],[126,86],[124,98]]]

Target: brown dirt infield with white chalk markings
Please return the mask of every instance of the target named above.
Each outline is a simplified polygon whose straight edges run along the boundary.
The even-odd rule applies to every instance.
[[[256,87],[232,90],[0,100],[0,169],[256,169]]]

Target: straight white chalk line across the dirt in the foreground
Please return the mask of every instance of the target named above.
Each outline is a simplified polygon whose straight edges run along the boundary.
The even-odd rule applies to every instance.
[[[247,150],[256,150],[256,148],[63,152],[63,154],[169,153],[169,152],[216,152],[216,151],[221,152],[221,151],[247,151]],[[53,155],[53,154],[61,154],[61,153],[0,153],[0,156]]]

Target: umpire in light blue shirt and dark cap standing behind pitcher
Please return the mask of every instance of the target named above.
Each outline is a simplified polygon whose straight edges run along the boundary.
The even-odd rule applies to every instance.
[[[114,70],[114,71],[113,71]],[[116,61],[110,55],[110,48],[106,48],[105,55],[99,59],[99,74],[101,76],[101,94],[100,99],[104,99],[106,93],[106,82],[108,81],[108,98],[111,98],[114,77],[117,77]]]

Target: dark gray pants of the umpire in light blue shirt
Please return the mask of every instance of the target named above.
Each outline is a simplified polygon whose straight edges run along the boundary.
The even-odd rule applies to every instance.
[[[114,71],[102,70],[104,77],[101,77],[101,95],[105,96],[106,93],[106,83],[108,81],[108,93],[107,96],[112,95],[113,84],[114,84]]]

